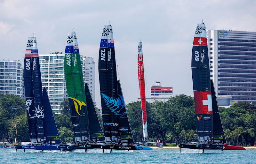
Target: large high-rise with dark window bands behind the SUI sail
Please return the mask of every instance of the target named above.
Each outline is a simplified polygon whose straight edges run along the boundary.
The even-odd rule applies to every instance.
[[[208,30],[216,94],[256,104],[256,32]]]

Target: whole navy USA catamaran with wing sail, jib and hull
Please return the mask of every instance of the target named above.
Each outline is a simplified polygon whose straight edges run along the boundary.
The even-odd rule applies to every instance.
[[[42,92],[36,37],[28,38],[24,60],[24,88],[26,96],[29,145],[15,145],[19,148],[34,150],[59,150],[61,143],[58,128],[52,113],[52,107],[46,88]]]

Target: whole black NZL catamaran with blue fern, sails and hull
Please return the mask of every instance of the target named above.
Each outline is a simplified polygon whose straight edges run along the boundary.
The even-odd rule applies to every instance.
[[[103,149],[152,150],[135,146],[120,81],[116,76],[116,57],[112,26],[104,26],[99,51],[99,79],[102,119],[106,145]],[[114,143],[114,144],[113,144]]]

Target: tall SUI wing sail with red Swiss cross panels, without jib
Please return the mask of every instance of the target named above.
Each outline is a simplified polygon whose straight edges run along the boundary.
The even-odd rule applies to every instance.
[[[212,90],[204,23],[196,26],[191,68],[198,141],[204,142],[213,139]]]

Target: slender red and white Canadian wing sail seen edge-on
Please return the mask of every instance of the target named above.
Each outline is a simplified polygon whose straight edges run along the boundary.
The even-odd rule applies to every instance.
[[[148,141],[147,108],[146,108],[145,78],[144,78],[144,65],[143,65],[141,42],[139,42],[139,45],[138,45],[138,76],[139,76],[139,86],[140,86],[143,141],[147,142]]]

